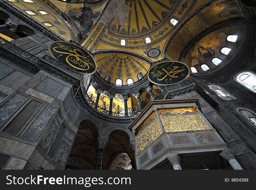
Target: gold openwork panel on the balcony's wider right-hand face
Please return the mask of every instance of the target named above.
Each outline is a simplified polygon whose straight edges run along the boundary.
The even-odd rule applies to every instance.
[[[160,116],[165,132],[185,132],[211,129],[200,114]]]

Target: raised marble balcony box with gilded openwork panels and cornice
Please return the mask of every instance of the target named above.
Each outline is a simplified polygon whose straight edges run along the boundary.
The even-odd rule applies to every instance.
[[[135,135],[137,169],[152,169],[174,152],[221,152],[227,147],[201,113],[198,99],[151,101],[129,129]]]

